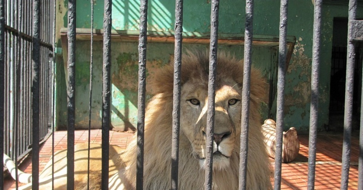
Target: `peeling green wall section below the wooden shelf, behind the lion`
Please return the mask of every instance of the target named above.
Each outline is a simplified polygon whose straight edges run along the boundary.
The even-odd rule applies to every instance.
[[[138,85],[138,49],[137,43],[112,43],[111,51],[111,125],[116,128],[135,129],[137,122],[137,85]],[[147,82],[154,76],[155,70],[170,62],[174,54],[174,44],[150,43],[147,49]],[[206,49],[205,45],[184,45],[184,48]],[[241,46],[221,46],[219,50],[234,53],[243,58]],[[88,127],[89,107],[89,62],[90,42],[77,41],[76,48],[76,128]],[[261,68],[266,78],[269,76],[271,63],[271,48],[254,48],[256,57],[253,64]],[[264,54],[265,56],[257,56]],[[94,43],[93,94],[92,94],[92,128],[101,126],[102,110],[102,42]],[[64,80],[65,81],[65,80]],[[62,85],[66,86],[65,82]],[[146,86],[147,99],[151,97],[152,89]],[[60,104],[66,104],[66,96],[59,97]],[[58,126],[65,128],[67,110],[60,109]]]

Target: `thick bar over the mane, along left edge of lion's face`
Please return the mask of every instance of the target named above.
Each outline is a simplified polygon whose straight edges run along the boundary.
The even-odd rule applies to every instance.
[[[183,0],[175,1],[175,43],[174,43],[174,95],[173,132],[171,142],[171,189],[178,189],[179,133],[180,133],[180,76],[181,46],[183,41]]]

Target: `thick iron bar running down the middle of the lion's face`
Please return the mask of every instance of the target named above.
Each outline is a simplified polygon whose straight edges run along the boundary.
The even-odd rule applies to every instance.
[[[217,44],[218,44],[218,14],[219,0],[212,0],[211,3],[211,39],[209,45],[209,76],[208,76],[208,111],[206,129],[206,151],[205,157],[205,190],[212,189],[213,173],[213,134],[215,116],[216,96],[216,72],[217,72]]]

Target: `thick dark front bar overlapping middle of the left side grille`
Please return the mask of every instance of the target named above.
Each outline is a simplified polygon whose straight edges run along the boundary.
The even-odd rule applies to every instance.
[[[33,1],[32,189],[39,189],[40,0]]]

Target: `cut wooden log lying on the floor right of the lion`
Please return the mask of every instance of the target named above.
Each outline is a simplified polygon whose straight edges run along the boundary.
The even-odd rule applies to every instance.
[[[262,125],[262,134],[265,136],[267,152],[270,157],[275,158],[276,153],[276,122],[267,119]],[[282,137],[282,162],[293,161],[299,154],[299,139],[297,130],[291,127],[287,132],[283,132]]]

